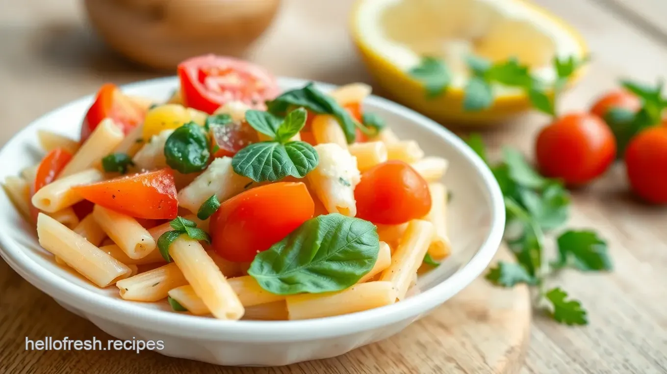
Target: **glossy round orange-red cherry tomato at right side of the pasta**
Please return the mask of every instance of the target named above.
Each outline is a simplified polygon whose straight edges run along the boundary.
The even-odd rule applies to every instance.
[[[354,189],[357,217],[380,224],[401,224],[431,210],[428,182],[402,161],[388,161],[362,174]]]

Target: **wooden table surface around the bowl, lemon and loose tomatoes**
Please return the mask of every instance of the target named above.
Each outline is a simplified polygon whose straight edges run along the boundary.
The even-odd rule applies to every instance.
[[[537,2],[579,29],[590,45],[592,69],[564,97],[564,109],[584,110],[618,77],[654,81],[667,75],[667,3],[663,0]],[[279,18],[249,58],[278,75],[333,83],[370,81],[346,33],[351,3],[285,0]],[[0,144],[31,120],[95,91],[104,81],[126,83],[157,76],[123,61],[90,35],[75,1],[0,0],[0,9]],[[290,53],[284,53],[287,48]],[[486,139],[493,150],[512,145],[530,153],[534,134],[546,121],[539,114],[529,114],[488,132]],[[564,272],[556,280],[586,305],[590,325],[563,327],[535,317],[521,373],[667,373],[667,210],[632,198],[621,166],[589,188],[574,192],[573,200],[570,225],[595,228],[607,238],[616,268],[599,275]],[[102,336],[91,323],[58,307],[0,261],[0,373],[5,369],[8,373],[67,373],[72,367],[87,373],[93,367],[85,363],[94,359],[91,355],[44,355],[23,349],[25,336],[65,336],[74,328],[79,338]],[[438,351],[432,353],[438,355]],[[362,363],[348,361],[333,359],[323,367],[303,365],[289,371],[243,372],[402,371],[362,369]],[[135,366],[126,371],[145,372],[151,361],[133,362]],[[405,370],[419,367],[397,365]],[[173,372],[225,370],[181,365]],[[485,373],[474,368],[460,372]]]

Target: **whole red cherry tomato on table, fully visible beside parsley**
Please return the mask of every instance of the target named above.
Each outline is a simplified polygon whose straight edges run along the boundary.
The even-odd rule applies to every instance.
[[[540,131],[535,144],[544,176],[566,184],[586,184],[616,158],[616,140],[604,121],[589,113],[568,114]]]

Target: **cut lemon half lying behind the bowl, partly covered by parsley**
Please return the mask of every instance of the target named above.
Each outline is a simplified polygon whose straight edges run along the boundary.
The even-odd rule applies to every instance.
[[[358,0],[351,27],[378,84],[399,102],[441,122],[489,124],[531,106],[522,89],[494,85],[490,108],[464,111],[469,55],[490,61],[516,57],[534,77],[552,83],[554,57],[584,59],[588,53],[577,31],[523,0]],[[436,98],[427,98],[424,85],[408,73],[427,55],[442,58],[453,75],[446,93]]]

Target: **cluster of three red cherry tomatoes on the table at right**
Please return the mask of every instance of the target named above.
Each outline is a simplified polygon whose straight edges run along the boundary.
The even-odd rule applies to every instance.
[[[638,113],[644,105],[642,98],[623,89],[599,98],[590,112],[557,118],[540,131],[536,140],[540,172],[568,186],[582,186],[602,176],[620,158],[632,190],[647,202],[666,204],[667,122],[659,120],[636,129],[636,134],[628,136],[624,149],[618,146],[624,140],[615,136],[608,123],[611,110]],[[617,128],[614,130],[618,133]]]

